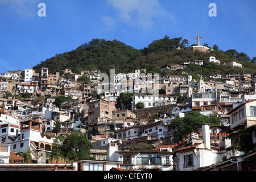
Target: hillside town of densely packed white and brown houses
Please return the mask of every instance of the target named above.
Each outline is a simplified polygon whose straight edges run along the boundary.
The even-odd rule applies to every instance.
[[[217,57],[162,69],[183,69]],[[241,67],[240,64],[230,63]],[[106,76],[100,71],[70,69],[50,73],[42,68],[0,75],[1,171],[251,171],[256,151],[234,150],[240,131],[256,124],[256,77],[249,74],[183,75],[133,73]],[[82,78],[89,81],[83,81]],[[104,81],[102,79],[104,77]],[[108,79],[106,79],[106,77]],[[82,81],[81,81],[82,80]],[[117,104],[130,93],[129,105]],[[65,96],[68,101],[56,102]],[[172,123],[189,112],[220,118],[220,125],[202,125],[198,132],[175,141]],[[60,123],[59,130],[56,130]],[[82,133],[92,143],[94,160],[51,162],[52,144],[59,136]],[[256,147],[255,131],[250,134]],[[131,150],[134,144],[152,150]],[[30,152],[26,161],[18,154]]]

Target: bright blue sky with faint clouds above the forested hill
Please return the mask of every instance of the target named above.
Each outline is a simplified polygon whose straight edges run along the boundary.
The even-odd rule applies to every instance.
[[[210,17],[210,3],[217,16]],[[39,3],[46,17],[38,16]],[[147,47],[168,35],[256,56],[256,1],[0,0],[0,73],[29,69],[94,38]]]

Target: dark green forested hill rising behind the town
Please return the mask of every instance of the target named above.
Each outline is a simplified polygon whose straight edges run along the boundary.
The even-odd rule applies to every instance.
[[[163,74],[161,67],[170,64],[183,64],[184,61],[194,61],[203,58],[203,67],[190,65],[183,71],[203,76],[216,73],[226,75],[228,73],[256,73],[256,57],[250,59],[246,53],[239,53],[235,49],[222,51],[217,45],[209,53],[193,52],[188,46],[188,40],[183,38],[170,39],[165,36],[163,39],[154,40],[143,49],[135,49],[127,46],[118,40],[92,39],[89,43],[82,44],[73,51],[56,54],[56,56],[42,61],[34,67],[40,73],[42,67],[48,67],[49,72],[63,72],[65,68],[72,69],[72,72],[80,74],[84,70],[100,70],[102,73],[134,72],[135,69],[146,69],[147,73]],[[203,46],[208,46],[204,44]],[[180,47],[180,49],[177,49]],[[215,56],[221,61],[221,65],[206,62],[209,56]],[[237,61],[243,68],[231,67],[229,63]],[[173,72],[175,75],[180,71]]]

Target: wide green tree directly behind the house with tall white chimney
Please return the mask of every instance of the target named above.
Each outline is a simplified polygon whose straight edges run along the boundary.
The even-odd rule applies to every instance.
[[[186,138],[192,132],[199,133],[202,125],[220,125],[221,119],[215,115],[203,115],[197,111],[189,111],[188,115],[183,118],[175,118],[172,122],[174,130],[174,140],[179,142]]]

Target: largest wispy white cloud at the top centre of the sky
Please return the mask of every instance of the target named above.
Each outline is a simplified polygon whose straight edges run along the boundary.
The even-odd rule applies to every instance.
[[[168,15],[174,22],[174,16],[160,7],[158,0],[106,0],[117,10],[117,17],[122,23],[130,26],[149,28],[154,26],[154,18]]]

